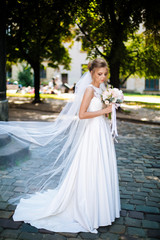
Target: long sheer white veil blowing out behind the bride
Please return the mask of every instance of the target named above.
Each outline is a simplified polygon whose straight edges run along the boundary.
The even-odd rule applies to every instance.
[[[12,202],[37,191],[58,188],[63,182],[88,121],[80,120],[78,115],[83,94],[91,82],[88,71],[77,82],[74,98],[66,104],[53,123],[0,122],[0,133],[7,134],[13,144],[16,142],[25,149],[21,154],[21,159],[25,159],[25,168],[22,161],[14,169],[19,177],[17,179],[20,176],[25,179],[24,190],[14,194]],[[101,84],[101,88],[104,87]],[[12,162],[12,159],[7,161]]]

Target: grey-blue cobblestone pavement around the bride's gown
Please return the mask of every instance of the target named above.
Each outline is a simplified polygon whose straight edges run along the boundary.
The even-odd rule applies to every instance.
[[[14,222],[15,206],[9,204],[8,199],[21,191],[28,160],[0,171],[3,196],[0,199],[0,239],[160,239],[160,128],[118,121],[118,131],[116,153],[122,208],[119,219],[111,226],[100,227],[98,234],[54,233],[38,230],[24,222]],[[22,174],[19,174],[20,169]]]

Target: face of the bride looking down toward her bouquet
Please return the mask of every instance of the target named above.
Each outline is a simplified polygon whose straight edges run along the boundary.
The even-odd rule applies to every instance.
[[[108,69],[106,67],[103,68],[95,68],[91,71],[91,76],[94,82],[101,84],[107,79]]]

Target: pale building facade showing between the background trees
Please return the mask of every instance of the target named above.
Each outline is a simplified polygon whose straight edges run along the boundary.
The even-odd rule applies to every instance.
[[[81,41],[75,41],[71,48],[69,44],[66,43],[65,47],[68,47],[72,59],[71,70],[65,70],[63,66],[60,66],[59,70],[55,70],[48,67],[48,62],[44,61],[42,63],[43,68],[40,72],[41,83],[49,83],[53,78],[59,78],[61,82],[73,86],[73,84],[80,79],[84,66],[88,64],[87,53],[82,51]],[[12,65],[11,72],[7,72],[7,75],[12,78],[12,80],[17,81],[18,72],[21,70],[21,64]],[[145,79],[139,78],[138,76],[132,76],[126,81],[125,88],[123,89],[126,92],[160,94],[160,79]]]

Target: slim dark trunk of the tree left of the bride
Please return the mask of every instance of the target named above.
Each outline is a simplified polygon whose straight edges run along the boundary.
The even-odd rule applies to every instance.
[[[34,101],[33,103],[40,103],[40,95],[39,95],[39,90],[40,90],[40,62],[37,61],[33,67],[34,70],[34,89],[35,89],[35,96],[34,96]]]

